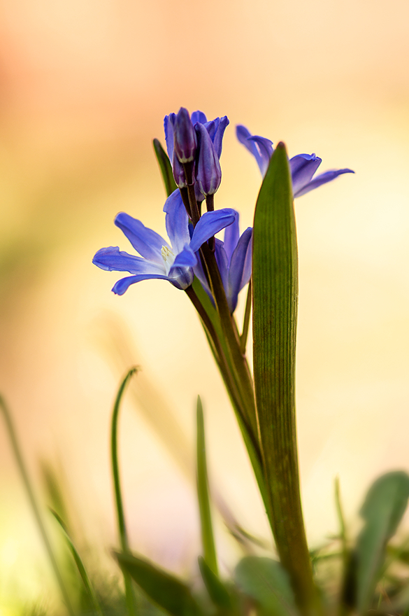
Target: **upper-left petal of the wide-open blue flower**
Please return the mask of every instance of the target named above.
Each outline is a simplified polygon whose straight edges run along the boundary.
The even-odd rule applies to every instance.
[[[132,246],[138,253],[149,259],[155,261],[155,263],[162,263],[162,246],[167,246],[168,242],[163,239],[156,231],[148,229],[137,221],[136,218],[132,218],[129,214],[120,212],[115,218],[115,225],[127,236]]]

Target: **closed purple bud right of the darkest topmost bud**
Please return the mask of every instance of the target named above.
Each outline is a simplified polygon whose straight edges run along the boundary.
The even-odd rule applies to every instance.
[[[213,141],[203,124],[194,126],[199,137],[199,157],[196,163],[196,182],[203,195],[213,195],[222,181],[219,157]]]

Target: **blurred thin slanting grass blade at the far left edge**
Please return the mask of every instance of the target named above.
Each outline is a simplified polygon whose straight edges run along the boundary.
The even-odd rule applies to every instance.
[[[21,449],[20,449],[20,444],[19,444],[19,442],[17,440],[17,433],[16,433],[16,431],[14,429],[13,421],[11,420],[11,415],[10,415],[10,412],[8,411],[8,407],[6,405],[6,402],[3,400],[1,395],[0,395],[0,408],[1,408],[2,412],[3,412],[3,416],[4,416],[4,419],[6,421],[6,427],[7,427],[7,430],[8,430],[8,436],[10,437],[10,443],[11,443],[11,447],[13,449],[15,461],[17,462],[18,469],[20,470],[20,475],[22,477],[22,481],[24,483],[24,487],[26,489],[27,496],[29,497],[31,509],[33,510],[34,517],[35,517],[36,522],[37,522],[38,530],[40,531],[41,538],[43,539],[43,543],[44,543],[45,549],[46,549],[46,551],[48,553],[48,558],[50,559],[52,570],[54,571],[54,574],[55,574],[55,577],[56,577],[56,580],[57,580],[57,584],[59,585],[59,589],[61,591],[63,600],[64,600],[64,602],[66,604],[67,611],[69,612],[70,616],[74,616],[75,612],[74,612],[73,606],[71,604],[71,599],[69,597],[68,590],[66,589],[66,585],[65,585],[64,579],[62,577],[62,574],[61,574],[61,572],[59,570],[59,566],[57,564],[57,559],[55,558],[55,554],[54,554],[54,551],[52,549],[50,539],[48,538],[48,533],[45,530],[45,525],[44,525],[44,522],[43,522],[43,518],[41,516],[40,507],[38,507],[36,496],[34,496],[34,489],[31,486],[31,480],[29,478],[29,474],[27,472],[27,468],[26,468],[26,466],[24,464],[24,460],[23,460],[23,457],[22,457]]]

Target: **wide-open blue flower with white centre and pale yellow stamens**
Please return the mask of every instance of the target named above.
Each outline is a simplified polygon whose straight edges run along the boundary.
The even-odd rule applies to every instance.
[[[118,246],[110,246],[101,248],[94,256],[92,262],[101,269],[132,274],[115,283],[113,292],[117,295],[123,295],[135,282],[153,278],[168,280],[173,286],[186,289],[194,279],[193,267],[198,262],[195,253],[215,233],[234,223],[238,216],[234,209],[229,208],[206,212],[191,237],[189,219],[179,190],[168,197],[164,211],[170,244],[129,214],[121,212],[115,218],[115,225],[141,255],[129,255],[120,251]]]

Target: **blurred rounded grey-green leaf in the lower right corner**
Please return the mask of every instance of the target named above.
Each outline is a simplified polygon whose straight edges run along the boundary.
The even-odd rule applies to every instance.
[[[385,562],[387,542],[396,532],[408,498],[409,476],[403,471],[382,475],[366,495],[360,511],[365,526],[359,533],[356,547],[356,600],[360,614],[371,607]]]

